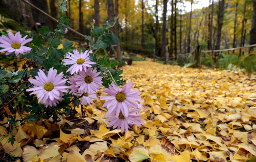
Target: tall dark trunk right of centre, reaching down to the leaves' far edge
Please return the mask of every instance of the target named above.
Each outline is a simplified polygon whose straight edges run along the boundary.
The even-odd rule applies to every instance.
[[[165,58],[165,63],[166,63],[166,12],[167,12],[167,2],[168,2],[168,0],[164,0],[162,44],[161,44],[161,57]]]

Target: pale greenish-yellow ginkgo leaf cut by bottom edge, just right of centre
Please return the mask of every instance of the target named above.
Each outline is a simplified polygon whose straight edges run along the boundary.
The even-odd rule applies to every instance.
[[[150,158],[148,150],[143,146],[136,146],[133,148],[131,154],[129,155],[129,160],[131,162],[141,162]]]

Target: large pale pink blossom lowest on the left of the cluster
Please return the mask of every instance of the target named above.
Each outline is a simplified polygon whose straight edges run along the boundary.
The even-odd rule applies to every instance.
[[[62,79],[63,73],[57,74],[57,70],[51,68],[48,76],[45,75],[43,70],[39,70],[37,74],[38,76],[35,76],[36,79],[29,79],[35,85],[34,88],[26,91],[33,91],[30,95],[36,94],[38,103],[42,101],[46,107],[48,105],[56,105],[58,101],[62,101],[63,92],[67,92],[68,88],[68,86],[64,85],[67,79]]]

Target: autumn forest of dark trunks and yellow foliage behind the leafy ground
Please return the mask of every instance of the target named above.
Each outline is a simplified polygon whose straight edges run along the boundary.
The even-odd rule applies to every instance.
[[[1,14],[24,26],[38,28],[49,25],[53,29],[56,25],[47,16],[24,6],[20,0],[2,0],[1,3]],[[23,7],[17,10],[16,5],[11,3]],[[31,0],[31,3],[57,18],[57,0]],[[256,44],[253,0],[209,0],[208,7],[193,11],[192,6],[200,5],[201,1],[70,0],[67,3],[65,14],[71,19],[70,27],[81,34],[90,34],[93,19],[96,20],[95,25],[100,27],[106,22],[116,21],[110,30],[119,37],[119,43],[114,45],[118,49],[118,60],[126,51],[186,67],[208,66],[249,72],[256,69],[255,55],[249,54],[248,48],[205,52]],[[88,45],[83,37],[74,32],[65,37],[78,40],[80,45]],[[243,55],[245,57],[239,57]]]

